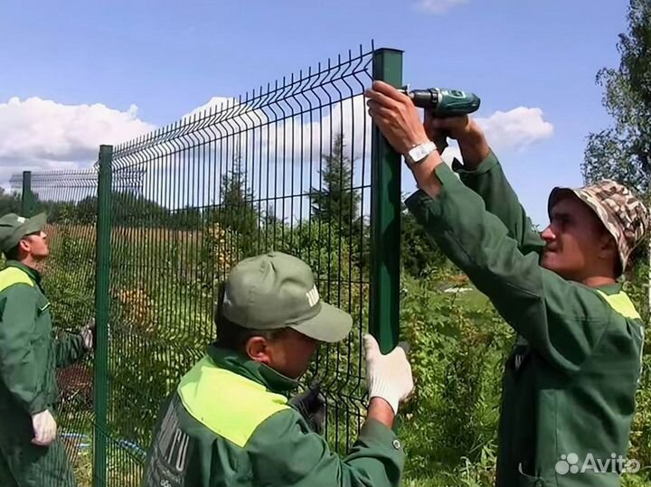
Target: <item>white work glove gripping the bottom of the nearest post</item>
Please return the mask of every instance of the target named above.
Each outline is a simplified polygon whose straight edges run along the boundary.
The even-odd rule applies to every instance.
[[[378,342],[370,334],[364,335],[364,350],[369,398],[384,399],[397,414],[398,404],[409,398],[414,387],[407,354],[399,345],[382,355]]]

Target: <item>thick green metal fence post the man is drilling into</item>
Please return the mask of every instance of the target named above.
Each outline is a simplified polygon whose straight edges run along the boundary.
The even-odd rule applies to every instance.
[[[402,52],[373,52],[373,80],[402,85]],[[371,296],[369,330],[382,351],[398,344],[400,320],[401,155],[373,125],[371,148]]]

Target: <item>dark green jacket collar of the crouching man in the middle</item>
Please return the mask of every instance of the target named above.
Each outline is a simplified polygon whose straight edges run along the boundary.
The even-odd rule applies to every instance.
[[[282,394],[298,387],[297,380],[289,379],[263,363],[251,361],[237,351],[212,344],[208,346],[208,355],[217,367],[231,370],[246,379],[258,382],[272,392]]]

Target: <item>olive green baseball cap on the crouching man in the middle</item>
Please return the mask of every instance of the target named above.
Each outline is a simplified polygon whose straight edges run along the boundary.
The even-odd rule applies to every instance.
[[[350,314],[321,300],[312,269],[282,252],[245,258],[231,269],[222,314],[244,328],[288,327],[319,342],[340,342],[353,327]]]

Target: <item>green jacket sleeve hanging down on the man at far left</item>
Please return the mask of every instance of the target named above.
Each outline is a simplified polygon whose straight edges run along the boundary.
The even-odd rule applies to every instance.
[[[3,293],[0,317],[0,378],[18,404],[30,414],[45,410],[42,371],[33,352],[36,294],[32,287],[15,284]]]

